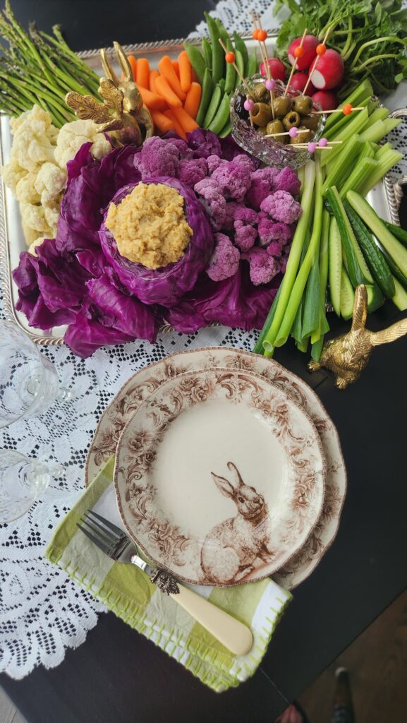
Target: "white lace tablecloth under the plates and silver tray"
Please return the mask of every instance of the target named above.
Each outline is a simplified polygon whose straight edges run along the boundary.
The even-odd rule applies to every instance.
[[[222,0],[214,14],[229,29],[244,33],[250,29],[252,8],[262,12],[264,27],[275,27],[267,0]],[[204,30],[203,24],[197,27],[200,33]],[[403,85],[391,99],[391,108],[407,105]],[[406,139],[398,136],[397,145],[403,150]],[[398,168],[396,175],[400,172]],[[1,302],[0,315],[4,317]],[[135,341],[99,349],[90,359],[78,359],[66,347],[41,350],[56,365],[61,383],[72,386],[72,398],[64,405],[55,403],[39,418],[0,430],[0,447],[59,461],[66,466],[67,475],[64,482],[51,484],[25,517],[0,526],[1,672],[20,679],[40,663],[58,665],[67,648],[85,641],[87,630],[105,610],[64,572],[46,562],[43,550],[55,526],[82,493],[87,448],[113,395],[137,369],[173,351],[222,344],[250,350],[256,336],[223,327],[189,337],[166,333],[154,346]]]

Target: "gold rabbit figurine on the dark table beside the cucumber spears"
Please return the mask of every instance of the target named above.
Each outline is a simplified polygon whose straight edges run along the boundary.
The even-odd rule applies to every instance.
[[[336,375],[335,385],[345,389],[359,379],[369,361],[372,348],[395,341],[407,334],[407,319],[395,322],[382,331],[369,331],[365,328],[367,320],[367,290],[363,284],[356,288],[354,317],[351,330],[324,344],[320,361],[310,361],[308,369],[316,372],[322,367],[330,369]]]

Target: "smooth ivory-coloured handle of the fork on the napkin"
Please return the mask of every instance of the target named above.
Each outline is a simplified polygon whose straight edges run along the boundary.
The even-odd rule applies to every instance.
[[[247,625],[178,581],[176,584],[179,593],[170,594],[170,597],[187,610],[202,628],[217,638],[234,655],[244,655],[249,652],[253,645],[253,636],[252,630]]]

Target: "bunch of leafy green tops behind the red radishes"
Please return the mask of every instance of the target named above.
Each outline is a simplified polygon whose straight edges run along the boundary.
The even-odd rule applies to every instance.
[[[343,57],[346,74],[340,98],[366,78],[375,93],[390,93],[407,78],[407,9],[401,0],[277,0],[291,15],[278,33],[278,55],[308,27],[320,38],[330,28],[329,46]]]

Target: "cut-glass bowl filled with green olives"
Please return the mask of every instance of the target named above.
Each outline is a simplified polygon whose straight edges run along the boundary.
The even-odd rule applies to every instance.
[[[246,82],[251,90],[250,95],[245,85],[236,87],[231,97],[232,136],[244,150],[267,166],[290,166],[294,170],[301,168],[311,158],[311,153],[307,148],[297,145],[320,140],[326,116],[312,114],[312,111],[321,110],[320,105],[299,90],[290,88],[285,95],[286,86],[280,80],[275,81],[272,108],[270,90],[265,87],[266,80],[258,74],[249,78]],[[253,102],[253,126],[250,124],[249,111],[244,107],[247,99]],[[296,137],[288,134],[273,137],[273,133],[289,132],[293,127],[298,129]]]

